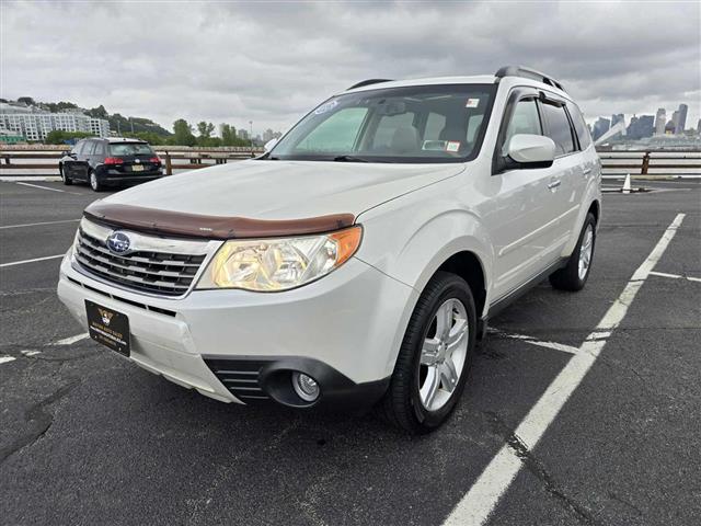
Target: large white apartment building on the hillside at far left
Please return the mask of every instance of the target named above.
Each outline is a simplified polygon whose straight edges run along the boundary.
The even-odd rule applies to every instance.
[[[110,123],[103,118],[81,113],[15,113],[12,110],[7,106],[0,108],[0,127],[22,135],[26,140],[44,140],[55,129],[84,132],[97,137],[110,136]]]

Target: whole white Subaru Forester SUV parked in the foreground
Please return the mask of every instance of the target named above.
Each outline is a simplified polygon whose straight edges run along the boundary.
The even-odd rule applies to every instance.
[[[491,317],[544,277],[584,286],[600,203],[556,80],[370,80],[256,159],[91,204],[58,294],[94,340],[208,397],[376,405],[423,433]]]

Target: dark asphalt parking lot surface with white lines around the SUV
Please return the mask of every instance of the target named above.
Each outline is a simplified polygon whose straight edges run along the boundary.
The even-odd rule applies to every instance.
[[[586,288],[492,320],[447,425],[407,437],[100,347],[55,290],[99,195],[0,183],[0,524],[699,524],[701,185],[648,186],[605,195]]]

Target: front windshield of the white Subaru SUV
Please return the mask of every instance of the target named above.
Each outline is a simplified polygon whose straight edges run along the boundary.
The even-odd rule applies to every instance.
[[[267,159],[464,162],[476,157],[494,84],[390,88],[334,96]]]

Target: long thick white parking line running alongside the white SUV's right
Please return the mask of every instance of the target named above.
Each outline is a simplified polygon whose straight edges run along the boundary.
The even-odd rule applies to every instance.
[[[621,295],[604,315],[598,327],[587,336],[577,354],[567,362],[567,365],[548,386],[545,392],[516,428],[515,435],[529,450],[536,447],[560,410],[570,399],[570,396],[579,386],[589,368],[596,362],[607,342],[606,339],[601,339],[602,331],[612,331],[621,323],[628,308],[635,299],[637,290],[643,286],[655,264],[664,254],[683,218],[685,214],[677,215],[650,255],[633,273]],[[521,466],[522,461],[518,453],[509,445],[504,445],[484,468],[484,471],[482,471],[472,488],[448,515],[444,524],[456,526],[484,524],[504,492],[512,484]]]

